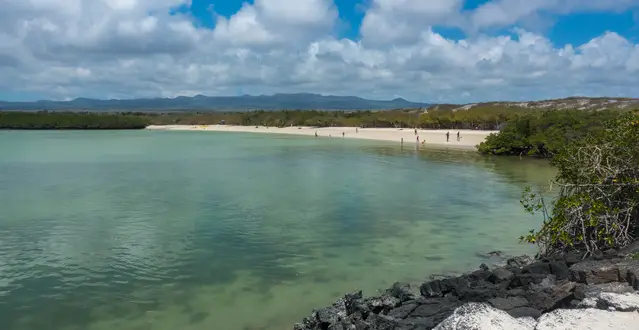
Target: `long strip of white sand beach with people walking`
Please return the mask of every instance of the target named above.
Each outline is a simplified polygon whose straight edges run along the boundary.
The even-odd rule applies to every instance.
[[[264,127],[264,126],[232,126],[232,125],[164,125],[149,126],[151,130],[172,130],[172,131],[212,131],[212,132],[242,132],[242,133],[270,133],[270,134],[295,134],[314,136],[317,132],[318,138],[341,139],[342,133],[347,139],[366,139],[378,141],[395,141],[398,144],[404,139],[404,145],[415,145],[417,136],[410,128],[359,128],[355,127]],[[446,132],[450,132],[450,141],[446,142]],[[461,139],[457,141],[457,132]],[[476,130],[417,130],[420,145],[431,147],[450,147],[461,149],[474,149],[476,145],[484,141],[490,133],[498,131],[476,131]],[[425,143],[422,141],[426,140]]]

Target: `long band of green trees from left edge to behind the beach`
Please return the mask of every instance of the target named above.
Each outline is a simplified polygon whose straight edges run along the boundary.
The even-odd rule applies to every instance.
[[[228,125],[285,126],[347,126],[347,127],[419,127],[424,129],[487,129],[497,130],[517,115],[533,110],[499,106],[478,106],[469,110],[452,108],[387,111],[251,111],[251,112],[135,112],[135,113],[72,113],[72,112],[0,112],[0,128],[86,128],[103,126],[114,121],[139,127],[150,125],[211,125],[224,121]],[[121,125],[121,124],[119,124]],[[114,127],[114,128],[117,128]]]

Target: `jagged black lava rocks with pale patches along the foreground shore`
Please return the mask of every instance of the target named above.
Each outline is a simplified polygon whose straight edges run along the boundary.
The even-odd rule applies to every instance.
[[[555,316],[565,315],[569,320],[590,313],[583,315],[595,317],[599,309],[605,313],[635,311],[639,316],[635,293],[639,260],[616,254],[581,259],[575,253],[542,260],[512,258],[493,269],[482,265],[472,273],[433,278],[419,287],[419,295],[400,283],[378,297],[351,293],[330,307],[313,311],[294,329],[500,329],[497,323],[506,329],[532,329],[530,324],[539,328]],[[560,309],[575,310],[553,314]],[[499,321],[485,323],[489,319]],[[484,323],[492,328],[481,327]],[[457,328],[450,328],[452,324]]]

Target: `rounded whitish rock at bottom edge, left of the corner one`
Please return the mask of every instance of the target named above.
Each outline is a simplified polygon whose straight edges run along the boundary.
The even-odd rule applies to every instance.
[[[434,330],[533,330],[534,323],[528,321],[521,322],[487,304],[468,303],[457,308]]]

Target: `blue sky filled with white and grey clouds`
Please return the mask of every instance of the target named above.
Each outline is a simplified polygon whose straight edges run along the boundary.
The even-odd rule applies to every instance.
[[[639,0],[0,0],[0,100],[639,97]]]

